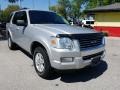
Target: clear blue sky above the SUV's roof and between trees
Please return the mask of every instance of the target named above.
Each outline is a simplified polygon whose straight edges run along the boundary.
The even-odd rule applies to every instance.
[[[7,1],[8,0],[0,0],[1,9],[5,9],[9,5]],[[55,5],[56,3],[57,0],[50,0],[50,5]],[[48,10],[49,0],[23,0],[21,5],[22,7],[30,9]]]

